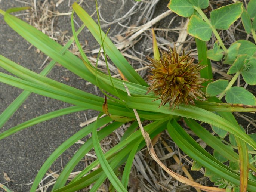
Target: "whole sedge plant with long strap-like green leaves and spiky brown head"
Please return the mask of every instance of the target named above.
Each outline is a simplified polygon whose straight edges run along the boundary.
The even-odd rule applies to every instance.
[[[177,6],[177,2],[180,3],[181,6]],[[209,4],[208,1],[204,0],[203,7],[197,7],[195,5],[191,6],[189,0],[185,2],[188,5],[184,6],[184,2],[185,1],[182,0],[170,1],[170,3],[173,3],[175,10],[181,9],[183,12],[183,10],[186,10],[187,7],[190,7],[191,9],[189,9],[189,11],[191,12],[191,14],[194,13],[194,8],[199,12],[203,12],[201,8],[206,8]],[[195,1],[193,2],[195,4]],[[241,7],[242,3],[239,4],[240,5],[232,5],[232,7],[240,6],[241,10],[239,14],[241,15],[241,12],[243,11]],[[198,4],[198,6],[201,5],[201,3]],[[224,7],[225,11],[222,11],[222,13],[231,16],[237,14],[237,9],[232,10],[229,8],[230,7]],[[24,37],[31,44],[33,44],[33,46],[46,53],[46,55],[51,57],[53,60],[39,75],[0,55],[0,67],[17,76],[14,77],[8,74],[0,73],[0,82],[7,83],[12,86],[16,86],[26,90],[26,92],[23,92],[18,97],[18,99],[16,99],[10,106],[8,106],[8,108],[6,108],[6,110],[0,115],[0,127],[2,127],[4,123],[6,123],[10,116],[19,108],[19,106],[21,106],[22,102],[27,99],[31,92],[43,96],[48,96],[63,102],[67,102],[74,106],[43,114],[39,117],[33,118],[29,121],[12,127],[4,131],[3,133],[0,133],[0,140],[4,139],[7,136],[10,136],[11,134],[16,133],[17,131],[27,128],[28,126],[40,123],[42,121],[49,120],[51,118],[58,117],[64,114],[70,114],[76,111],[84,111],[87,109],[97,110],[100,112],[104,111],[107,115],[115,115],[120,117],[119,119],[122,120],[122,122],[115,121],[113,118],[111,118],[110,115],[107,117],[102,117],[100,119],[97,118],[96,122],[87,125],[80,131],[75,133],[73,136],[71,136],[69,139],[67,139],[52,153],[52,155],[50,155],[50,157],[42,165],[33,182],[33,185],[31,186],[30,192],[34,192],[37,190],[37,186],[42,183],[41,180],[46,174],[47,170],[49,170],[52,163],[65,150],[67,150],[78,140],[84,137],[87,138],[87,136],[91,132],[92,137],[90,139],[87,139],[84,145],[82,145],[81,148],[77,150],[77,152],[63,169],[62,173],[59,175],[52,190],[55,192],[73,192],[88,187],[93,183],[91,191],[96,191],[98,188],[100,188],[103,181],[108,178],[116,191],[127,191],[127,188],[129,186],[129,174],[132,167],[133,159],[136,152],[141,150],[145,146],[145,142],[143,141],[144,138],[141,133],[147,132],[147,134],[151,138],[157,138],[156,136],[160,135],[160,133],[164,130],[168,131],[168,133],[172,137],[173,142],[175,142],[176,145],[179,146],[184,153],[189,155],[189,157],[191,157],[194,162],[206,168],[207,174],[209,171],[212,172],[212,176],[209,176],[211,180],[213,179],[213,177],[217,177],[215,181],[216,186],[218,185],[220,187],[223,187],[222,184],[224,184],[226,186],[226,189],[215,189],[213,187],[202,186],[199,183],[195,183],[192,180],[184,179],[185,177],[182,177],[181,175],[178,176],[178,174],[169,171],[168,174],[172,175],[173,178],[176,177],[177,180],[179,180],[180,182],[186,183],[186,185],[194,186],[197,188],[197,190],[203,189],[204,191],[227,192],[231,191],[231,188],[233,188],[233,191],[235,191],[235,188],[233,186],[240,185],[240,188],[243,188],[243,192],[245,192],[247,189],[250,192],[256,191],[256,181],[253,178],[253,174],[249,172],[249,168],[256,172],[253,160],[254,157],[252,157],[252,155],[250,154],[250,156],[252,157],[252,161],[248,160],[249,155],[247,155],[248,152],[246,146],[246,143],[248,143],[250,146],[253,147],[253,149],[256,149],[256,142],[252,139],[252,137],[250,137],[243,130],[241,130],[238,123],[235,121],[235,118],[230,113],[231,111],[255,111],[254,106],[241,107],[237,105],[227,105],[226,103],[214,103],[215,101],[219,102],[219,100],[216,97],[212,97],[209,100],[212,100],[214,102],[198,102],[196,103],[196,106],[181,106],[179,110],[174,108],[173,111],[170,111],[168,108],[157,109],[159,103],[151,102],[151,95],[148,97],[145,96],[145,92],[148,87],[146,82],[132,68],[129,62],[127,62],[121,52],[114,46],[114,44],[104,34],[104,32],[100,30],[100,26],[93,21],[90,15],[85,10],[83,10],[83,8],[79,6],[79,4],[74,3],[73,10],[84,22],[83,27],[86,25],[89,31],[98,41],[98,43],[102,45],[102,49],[103,47],[105,47],[104,54],[107,54],[109,56],[113,64],[115,64],[115,66],[120,70],[120,74],[123,74],[125,79],[128,81],[124,81],[118,78],[112,78],[108,75],[105,75],[102,71],[96,73],[96,69],[92,70],[93,68],[89,68],[91,65],[84,65],[83,60],[86,61],[87,57],[84,54],[83,49],[81,48],[81,44],[79,43],[77,38],[77,34],[81,31],[83,27],[81,27],[78,32],[75,32],[74,24],[72,24],[74,22],[73,15],[71,16],[71,28],[74,38],[68,41],[68,43],[64,47],[62,47],[42,32],[36,30],[36,28],[33,28],[26,22],[11,15],[10,12],[12,12],[13,10],[24,10],[24,8],[9,9],[6,12],[0,9],[0,14],[4,15],[4,20],[8,25],[10,25],[10,27],[12,27],[16,32],[22,35],[22,37]],[[230,14],[229,10],[232,10],[232,13],[235,14]],[[223,14],[219,14],[219,10],[217,11],[218,12],[215,12],[215,16],[219,15],[223,17]],[[195,18],[195,16],[191,16],[192,19],[193,17],[194,19],[197,19]],[[202,22],[198,19],[196,21],[199,24],[201,24],[200,22]],[[223,24],[223,19],[219,21],[220,24]],[[214,27],[217,26],[216,24],[218,24],[218,22],[216,23],[215,20]],[[198,25],[191,26],[195,27]],[[211,30],[212,29],[214,28],[211,27]],[[212,35],[210,32],[209,39],[211,37]],[[83,60],[67,50],[68,47],[72,44],[73,40],[76,41],[77,47]],[[200,46],[198,46],[198,57],[199,55],[203,55],[202,53],[204,52],[205,56],[202,56],[201,58],[206,61],[202,63],[204,63],[204,65],[208,64],[207,68],[209,69],[209,71],[208,73],[204,73],[204,78],[211,79],[212,75],[209,74],[211,74],[212,71],[206,57],[206,43],[203,40],[199,39],[197,39],[196,41],[199,41],[199,43],[197,44],[200,44]],[[239,44],[242,44],[242,42],[246,41],[239,42],[241,42]],[[248,44],[248,42],[246,44]],[[244,51],[246,44],[243,44],[243,46],[240,45],[242,47],[242,49],[240,50],[241,52]],[[216,43],[216,45],[218,44]],[[252,50],[255,50],[252,46],[250,47],[252,48]],[[247,47],[246,50],[251,50],[251,48],[248,49]],[[225,48],[223,50],[225,50]],[[220,53],[222,54],[222,50],[220,51]],[[252,54],[254,53],[255,51]],[[163,56],[159,61],[149,58],[149,60],[151,61],[150,66],[153,75],[151,77],[151,87],[149,88],[148,92],[153,90],[156,95],[160,96],[159,99],[162,99],[160,106],[166,104],[167,102],[170,102],[171,106],[176,106],[178,105],[178,103],[182,102],[189,104],[193,103],[193,99],[200,99],[200,97],[204,98],[203,92],[200,91],[200,88],[202,87],[201,83],[203,83],[203,81],[205,80],[200,78],[199,76],[199,71],[203,67],[200,67],[199,64],[194,64],[194,59],[191,58],[189,54],[185,55],[185,53],[183,52],[182,56],[179,56],[176,52],[176,49],[170,49],[167,53],[162,52],[162,55]],[[105,60],[107,61],[107,59]],[[115,97],[119,97],[119,95],[121,95],[122,98],[120,98],[120,100],[123,99],[123,102],[120,102],[115,98],[112,99],[109,97],[107,103],[104,102],[104,98],[100,96],[92,95],[83,90],[78,90],[74,87],[44,77],[53,68],[55,62],[63,65],[65,68],[67,68],[71,72],[74,72],[74,74],[78,75],[79,77],[84,78],[84,80],[99,86],[99,88],[105,90],[105,92],[108,92]],[[88,64],[90,64],[90,61],[88,61]],[[108,68],[107,64],[106,66]],[[97,71],[98,70],[99,69],[97,69]],[[130,90],[131,96],[126,96],[126,89],[123,86],[123,83],[125,83],[125,85],[127,86],[127,90]],[[113,87],[115,87],[115,89]],[[105,105],[105,103],[107,103],[107,107],[103,109],[102,105]],[[126,105],[124,105],[124,103],[126,103]],[[129,108],[129,110],[127,110],[127,108]],[[135,112],[135,110],[138,110],[138,114],[133,114],[133,112],[131,112],[132,109],[134,110],[133,112]],[[212,111],[218,114],[215,114]],[[141,130],[135,131],[135,129],[139,125],[138,122],[135,121],[129,123],[131,121],[131,118],[134,118],[135,116],[137,119],[141,117],[144,120],[151,120],[148,121],[148,124],[144,126],[145,132],[139,132],[143,129],[143,127]],[[181,117],[185,117],[184,120],[186,121],[188,127],[191,128],[195,135],[200,137],[207,145],[212,147],[213,150],[229,160],[229,162],[237,162],[237,164],[240,165],[240,173],[238,173],[237,170],[232,170],[234,167],[237,168],[239,166],[233,165],[228,167],[225,164],[222,164],[222,162],[220,162],[219,159],[215,158],[214,155],[210,155],[204,148],[198,145],[198,143],[191,136],[189,136],[189,134],[177,122],[177,120]],[[231,134],[234,136],[235,139],[233,140],[235,140],[234,143],[236,142],[237,145],[226,145],[226,142],[222,142],[220,138],[213,136],[213,134],[211,134],[208,130],[204,129],[193,119],[211,124],[215,127],[219,127],[223,131],[228,131],[229,136]],[[123,134],[120,142],[104,154],[101,151],[99,140],[104,139],[104,137],[107,137],[109,134],[112,133],[112,131],[120,127],[121,124],[123,124],[124,122],[123,120],[127,122],[126,126],[128,128],[126,132]],[[101,128],[101,130],[97,131],[97,128],[100,128],[104,125],[106,127]],[[147,141],[149,140],[150,139],[148,139]],[[230,146],[232,147],[230,148]],[[97,160],[88,165],[83,171],[75,176],[71,182],[66,183],[66,181],[69,179],[69,174],[71,173],[71,171],[93,147],[97,155]],[[233,148],[238,149],[239,155],[233,150]],[[151,149],[153,149],[153,147],[151,147]],[[126,162],[126,165],[124,167],[123,175],[121,176],[122,179],[120,181],[120,179],[118,178],[119,176],[115,174],[113,169],[117,170],[118,167],[124,164],[124,162]],[[180,162],[178,162],[178,164],[180,164]],[[98,169],[95,169],[96,166],[98,167]],[[92,172],[89,173],[89,171]],[[219,181],[223,181],[225,183],[220,184]],[[0,185],[0,188],[1,187],[2,185]]]

